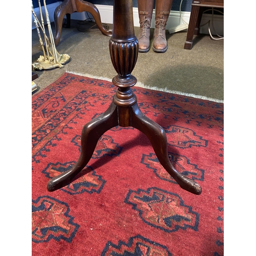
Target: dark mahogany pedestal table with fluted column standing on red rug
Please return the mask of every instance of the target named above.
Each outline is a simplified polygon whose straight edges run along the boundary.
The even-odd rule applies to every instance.
[[[110,38],[109,49],[113,66],[118,74],[112,82],[118,90],[108,110],[83,126],[81,154],[78,161],[70,170],[48,182],[49,191],[70,184],[91,159],[101,135],[120,125],[122,127],[132,126],[144,133],[150,139],[159,162],[170,176],[183,189],[196,195],[201,194],[200,185],[180,174],[170,163],[163,128],[146,117],[139,109],[136,95],[131,89],[137,83],[137,79],[131,75],[131,72],[138,57],[138,39],[134,34],[133,24],[133,1],[114,0],[113,35]]]

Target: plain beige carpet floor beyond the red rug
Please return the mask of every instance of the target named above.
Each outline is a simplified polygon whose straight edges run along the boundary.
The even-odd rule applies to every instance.
[[[71,20],[71,28],[62,28],[57,51],[66,53],[71,60],[63,68],[34,71],[38,78],[34,80],[39,92],[54,82],[64,72],[89,74],[94,77],[112,79],[117,73],[112,66],[109,53],[110,37],[103,35],[97,28],[86,32],[88,25],[79,25]],[[112,29],[112,25],[109,25]],[[53,34],[55,26],[52,24]],[[135,27],[135,34],[138,34]],[[151,43],[153,41],[152,29]],[[203,97],[214,101],[223,101],[224,96],[224,40],[212,40],[209,35],[200,35],[194,39],[193,48],[185,50],[186,32],[168,34],[168,50],[155,53],[152,48],[147,53],[139,53],[132,74],[145,86],[155,90]],[[32,63],[42,55],[36,30],[32,30]]]

